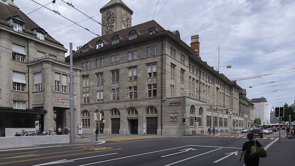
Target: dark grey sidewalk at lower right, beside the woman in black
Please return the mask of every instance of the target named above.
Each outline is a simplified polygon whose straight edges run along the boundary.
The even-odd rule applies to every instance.
[[[295,159],[294,153],[295,139],[281,138],[269,147],[266,158],[260,158],[259,165],[278,166],[293,165]]]

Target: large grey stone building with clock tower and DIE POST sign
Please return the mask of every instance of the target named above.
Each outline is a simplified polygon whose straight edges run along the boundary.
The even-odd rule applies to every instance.
[[[143,123],[147,134],[163,135],[244,126],[238,112],[242,88],[201,60],[199,35],[191,37],[190,47],[177,30],[154,20],[131,26],[132,11],[121,0],[111,0],[100,12],[103,35],[73,51],[74,63],[82,67],[83,133],[94,133],[97,105],[103,106],[104,134],[142,134]]]

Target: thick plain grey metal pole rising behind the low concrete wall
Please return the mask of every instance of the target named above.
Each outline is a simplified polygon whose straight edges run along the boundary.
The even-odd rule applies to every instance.
[[[75,143],[75,110],[74,110],[74,77],[73,77],[73,43],[70,43],[70,128],[71,143]]]

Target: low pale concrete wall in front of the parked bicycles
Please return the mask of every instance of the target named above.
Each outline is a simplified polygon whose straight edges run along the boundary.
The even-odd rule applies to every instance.
[[[69,135],[0,137],[0,147],[70,143]]]

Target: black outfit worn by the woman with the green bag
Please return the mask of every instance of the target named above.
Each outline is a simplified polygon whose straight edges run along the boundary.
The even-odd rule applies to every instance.
[[[258,166],[259,165],[259,157],[250,156],[251,147],[254,145],[254,140],[246,141],[243,145],[242,152],[244,152],[244,162],[245,166]],[[256,146],[263,148],[262,145],[256,141]]]

